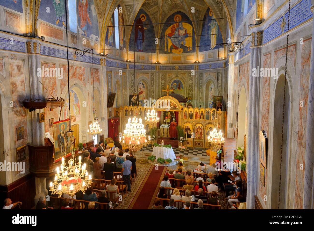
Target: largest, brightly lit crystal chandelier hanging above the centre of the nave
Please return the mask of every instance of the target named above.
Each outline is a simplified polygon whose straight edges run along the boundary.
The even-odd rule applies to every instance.
[[[142,149],[143,146],[147,146],[151,140],[150,136],[148,136],[148,140],[149,141],[146,140],[146,131],[144,124],[142,124],[142,119],[138,119],[135,116],[132,120],[131,118],[127,120],[122,139],[119,137],[120,144],[123,146],[126,145],[127,148],[133,152]]]

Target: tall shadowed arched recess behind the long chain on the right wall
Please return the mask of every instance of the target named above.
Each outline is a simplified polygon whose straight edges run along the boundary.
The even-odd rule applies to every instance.
[[[282,136],[282,115],[284,105],[284,75],[280,75],[275,88],[274,115],[273,115],[273,161],[272,161],[272,186],[271,186],[271,209],[278,209],[279,201],[279,175],[280,175],[280,150]],[[285,108],[284,108],[284,130],[282,144],[282,168],[280,185],[280,209],[286,208],[287,179],[288,179],[288,157],[289,157],[289,126],[290,126],[290,92],[288,81],[286,84]]]

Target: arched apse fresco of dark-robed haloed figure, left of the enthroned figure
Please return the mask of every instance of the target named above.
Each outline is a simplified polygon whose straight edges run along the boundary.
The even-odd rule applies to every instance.
[[[135,28],[132,27],[130,35],[129,50],[136,52],[156,53],[155,31],[152,20],[148,14],[140,9],[134,21]]]

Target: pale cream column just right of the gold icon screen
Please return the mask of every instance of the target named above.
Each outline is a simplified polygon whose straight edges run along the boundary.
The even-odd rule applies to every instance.
[[[229,124],[233,123],[233,110],[232,106],[233,105],[233,100],[232,100],[232,94],[233,94],[233,87],[234,87],[234,54],[229,53],[229,65],[228,65],[228,100],[226,102],[226,107],[228,110],[228,115],[227,115],[227,137],[228,138],[233,138],[233,126],[229,128]],[[229,103],[228,103],[229,102]],[[228,106],[230,105],[230,106]]]

